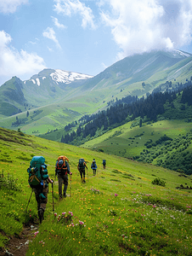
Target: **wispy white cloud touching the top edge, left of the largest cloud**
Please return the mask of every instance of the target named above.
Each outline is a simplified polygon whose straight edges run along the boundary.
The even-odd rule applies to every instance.
[[[54,0],[54,10],[58,14],[71,16],[71,15],[81,15],[82,16],[82,27],[86,28],[91,26],[95,29],[94,24],[94,15],[92,9],[87,7],[85,3],[80,2],[79,0]]]

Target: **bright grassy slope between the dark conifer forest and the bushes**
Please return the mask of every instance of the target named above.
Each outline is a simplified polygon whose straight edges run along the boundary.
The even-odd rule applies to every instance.
[[[172,139],[186,135],[191,131],[191,123],[184,120],[161,120],[155,123],[144,123],[132,128],[135,121],[128,122],[116,129],[104,133],[100,137],[84,143],[81,147],[94,150],[102,149],[104,153],[133,157],[140,154],[149,140],[153,142],[166,135]]]

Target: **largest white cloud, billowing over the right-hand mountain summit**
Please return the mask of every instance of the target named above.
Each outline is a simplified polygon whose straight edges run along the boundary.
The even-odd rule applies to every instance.
[[[121,48],[119,58],[192,41],[191,0],[100,0],[99,7]]]

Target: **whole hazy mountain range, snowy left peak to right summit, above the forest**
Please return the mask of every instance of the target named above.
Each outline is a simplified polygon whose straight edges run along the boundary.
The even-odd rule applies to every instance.
[[[192,57],[178,50],[133,55],[116,62],[95,77],[58,69],[44,69],[24,82],[17,79],[21,84],[20,96],[23,95],[20,104],[9,96],[0,97],[0,125],[3,123],[3,127],[17,129],[18,126],[11,124],[21,117],[20,111],[23,112],[22,119],[25,119],[27,111],[33,117],[31,112],[34,111],[36,119],[29,117],[27,122],[18,123],[25,132],[46,133],[48,130],[62,129],[68,122],[75,121],[77,116],[106,109],[108,102],[114,102],[116,98],[121,99],[129,95],[145,96],[168,79],[172,79],[173,84],[184,82],[190,76]],[[15,80],[11,79],[0,87],[0,96],[4,90],[14,86]],[[43,108],[41,115],[37,114],[40,111],[38,108]],[[71,114],[71,121],[65,119],[65,108],[78,114]],[[12,114],[17,114],[18,117],[8,117]],[[46,122],[47,125],[43,128]],[[38,129],[38,125],[41,129]]]

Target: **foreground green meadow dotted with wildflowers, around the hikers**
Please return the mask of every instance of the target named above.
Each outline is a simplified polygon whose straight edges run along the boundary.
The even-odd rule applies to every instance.
[[[143,128],[141,128],[143,129]],[[68,196],[59,201],[57,157],[70,160]],[[88,148],[56,143],[0,128],[0,247],[37,222],[37,203],[27,183],[31,158],[42,155],[54,179],[45,219],[33,231],[26,255],[191,255],[192,178],[158,166]],[[77,171],[88,164],[86,183]],[[91,162],[98,170],[93,176]],[[102,160],[106,160],[103,169]],[[161,181],[164,186],[152,184]],[[26,207],[29,206],[26,211]],[[54,207],[54,209],[53,209]]]

